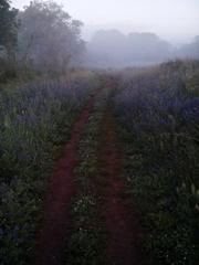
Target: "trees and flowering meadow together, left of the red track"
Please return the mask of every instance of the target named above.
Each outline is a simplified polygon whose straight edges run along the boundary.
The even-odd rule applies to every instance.
[[[54,162],[98,77],[55,1],[0,2],[0,264],[30,264]]]

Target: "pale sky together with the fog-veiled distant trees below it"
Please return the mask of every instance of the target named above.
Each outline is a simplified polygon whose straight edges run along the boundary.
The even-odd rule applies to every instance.
[[[90,67],[125,67],[199,57],[198,0],[56,0],[83,22]],[[13,0],[23,9],[30,0]]]

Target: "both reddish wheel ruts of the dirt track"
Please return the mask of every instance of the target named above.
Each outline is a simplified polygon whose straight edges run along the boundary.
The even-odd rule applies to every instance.
[[[109,84],[109,83],[108,83]],[[111,87],[112,83],[109,84]],[[44,210],[43,230],[36,245],[36,265],[61,265],[65,237],[70,234],[70,206],[77,193],[74,183],[78,165],[78,144],[92,113],[93,95],[65,146],[62,159],[52,176]],[[106,261],[103,265],[143,265],[140,254],[142,229],[133,205],[124,197],[125,182],[119,179],[121,157],[117,146],[114,118],[107,108],[102,123],[101,148],[98,150],[100,173],[94,183],[102,198],[100,210],[107,232]]]

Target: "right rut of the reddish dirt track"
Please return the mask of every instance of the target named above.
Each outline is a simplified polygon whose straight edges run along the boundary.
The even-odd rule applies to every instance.
[[[138,214],[124,197],[126,187],[119,179],[121,158],[109,109],[103,120],[100,161],[102,212],[107,230],[107,265],[142,265],[139,244],[143,232]]]

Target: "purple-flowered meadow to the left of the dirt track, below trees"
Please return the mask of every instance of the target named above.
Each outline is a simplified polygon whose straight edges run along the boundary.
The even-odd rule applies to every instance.
[[[94,74],[0,91],[0,264],[30,264],[48,177]]]

